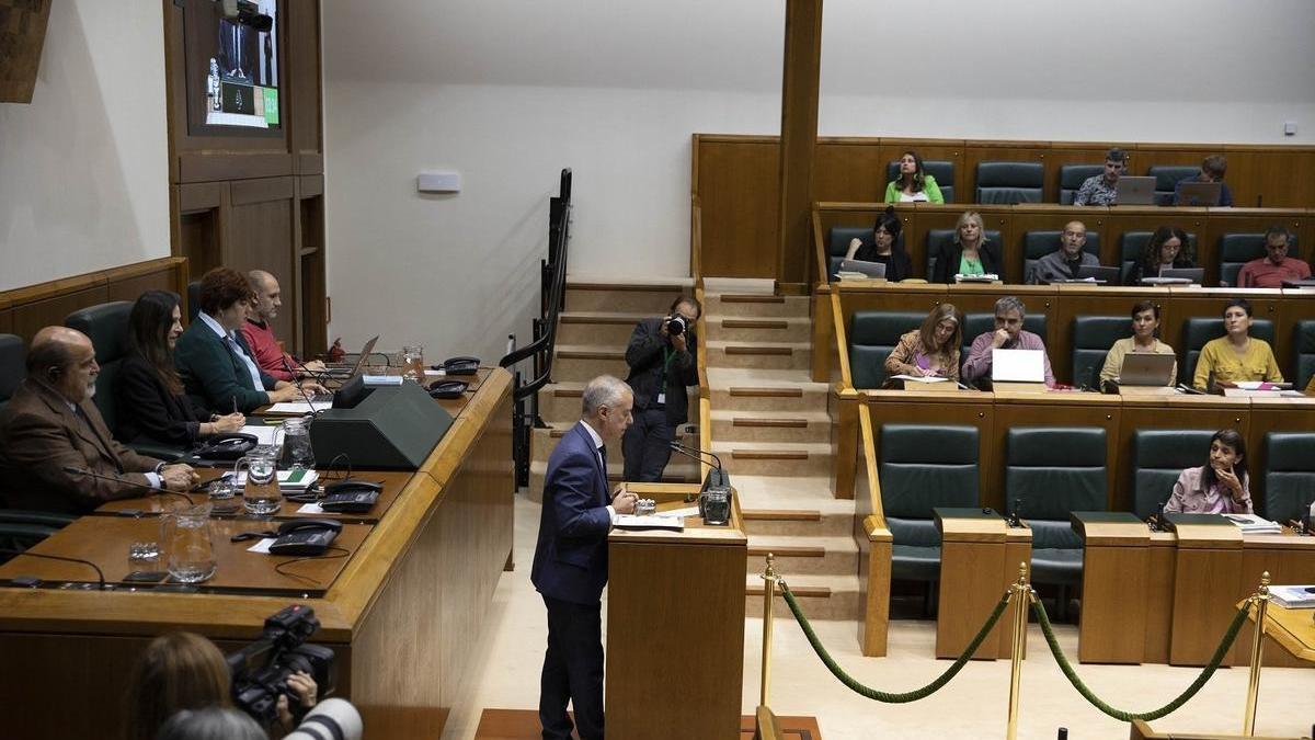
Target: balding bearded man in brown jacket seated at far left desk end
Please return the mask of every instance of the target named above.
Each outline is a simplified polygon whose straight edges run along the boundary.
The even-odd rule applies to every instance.
[[[33,337],[28,378],[0,416],[0,491],[8,506],[85,514],[143,495],[142,486],[184,491],[196,481],[189,466],[137,454],[109,435],[89,403],[99,373],[96,349],[82,332],[46,327]]]

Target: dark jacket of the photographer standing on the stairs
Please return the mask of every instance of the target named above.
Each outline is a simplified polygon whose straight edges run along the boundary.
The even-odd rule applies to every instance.
[[[663,387],[663,366],[665,354],[675,352],[671,341],[661,336],[665,319],[644,319],[635,325],[626,348],[626,365],[630,377],[626,382],[635,392],[635,410],[647,410],[658,403]],[[698,384],[698,338],[693,327],[685,329],[688,352],[677,352],[667,370],[667,421],[672,425],[684,424],[689,415],[689,394],[686,386]]]

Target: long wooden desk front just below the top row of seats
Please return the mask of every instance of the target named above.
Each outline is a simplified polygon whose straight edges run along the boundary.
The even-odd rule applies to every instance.
[[[835,226],[872,228],[885,203],[814,203],[813,250],[826,254],[831,229]],[[1308,208],[1166,208],[1156,205],[1084,207],[1031,203],[988,205],[952,203],[898,204],[903,223],[905,250],[913,259],[917,278],[927,278],[927,232],[953,229],[965,211],[981,213],[988,232],[999,232],[995,250],[1006,282],[1023,282],[1023,234],[1027,232],[1063,230],[1069,221],[1082,221],[1088,233],[1099,233],[1101,265],[1122,265],[1119,237],[1124,232],[1153,232],[1160,226],[1177,226],[1195,237],[1195,263],[1206,270],[1206,283],[1219,284],[1219,237],[1230,233],[1265,233],[1273,225],[1297,236],[1298,254],[1310,259],[1307,245],[1315,237],[1315,219]],[[1059,240],[1055,242],[1059,249]],[[815,261],[815,258],[814,258]],[[818,267],[813,267],[817,270]],[[814,279],[818,279],[814,277]],[[825,277],[821,278],[822,282]]]

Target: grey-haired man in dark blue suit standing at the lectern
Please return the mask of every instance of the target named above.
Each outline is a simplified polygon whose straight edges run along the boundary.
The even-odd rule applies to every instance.
[[[600,375],[584,388],[580,421],[567,431],[543,483],[543,514],[530,581],[548,608],[548,649],[539,682],[546,740],[569,740],[567,702],[580,740],[602,740],[602,587],[608,532],[635,511],[635,494],[608,492],[608,448],[630,425],[630,386]]]

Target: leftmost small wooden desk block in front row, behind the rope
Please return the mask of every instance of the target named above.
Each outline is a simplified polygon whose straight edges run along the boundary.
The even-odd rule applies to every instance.
[[[1001,596],[1018,581],[1018,564],[1032,560],[1032,531],[1010,528],[998,514],[980,508],[936,507],[940,529],[940,593],[936,657],[957,658],[972,643]],[[973,653],[974,658],[1007,658],[1013,649],[1014,607]]]

